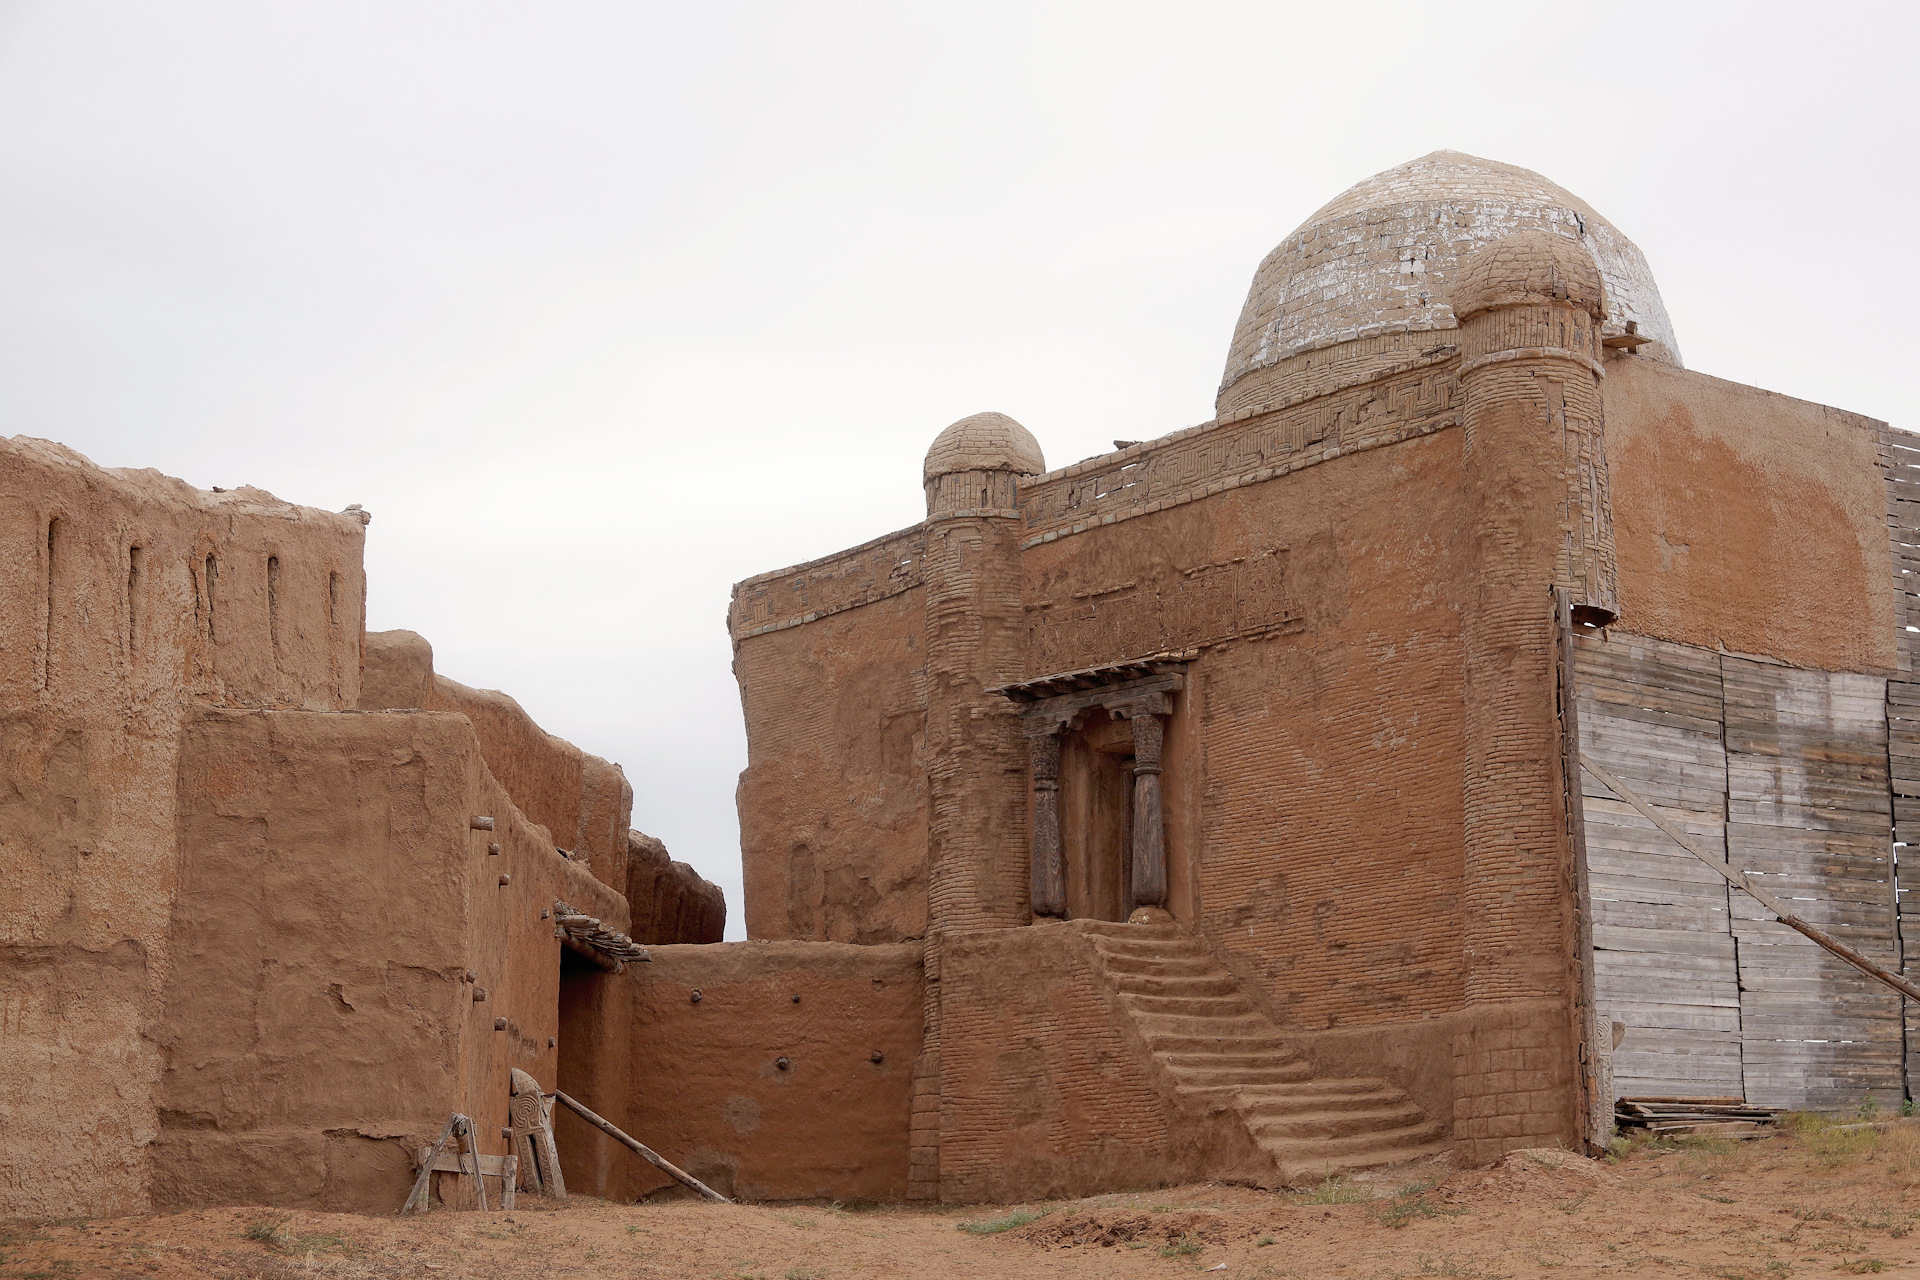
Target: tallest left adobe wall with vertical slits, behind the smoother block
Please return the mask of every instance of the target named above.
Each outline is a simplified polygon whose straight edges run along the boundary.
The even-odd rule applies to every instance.
[[[351,706],[363,537],[357,514],[0,439],[10,1213],[148,1207],[182,706]]]

